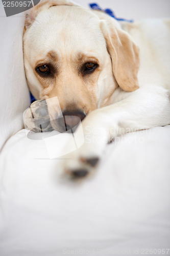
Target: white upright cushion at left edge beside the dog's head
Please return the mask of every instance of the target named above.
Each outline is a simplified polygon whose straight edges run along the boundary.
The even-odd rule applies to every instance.
[[[30,104],[22,52],[24,19],[24,13],[6,17],[0,1],[0,150],[22,129],[22,113]]]

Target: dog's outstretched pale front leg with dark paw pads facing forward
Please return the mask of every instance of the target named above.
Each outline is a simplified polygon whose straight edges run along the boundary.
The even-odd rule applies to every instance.
[[[91,172],[102,157],[106,143],[127,132],[170,123],[167,90],[145,87],[113,105],[91,112],[82,122],[84,144],[64,161],[64,171],[81,177]],[[82,136],[78,127],[77,136]]]

